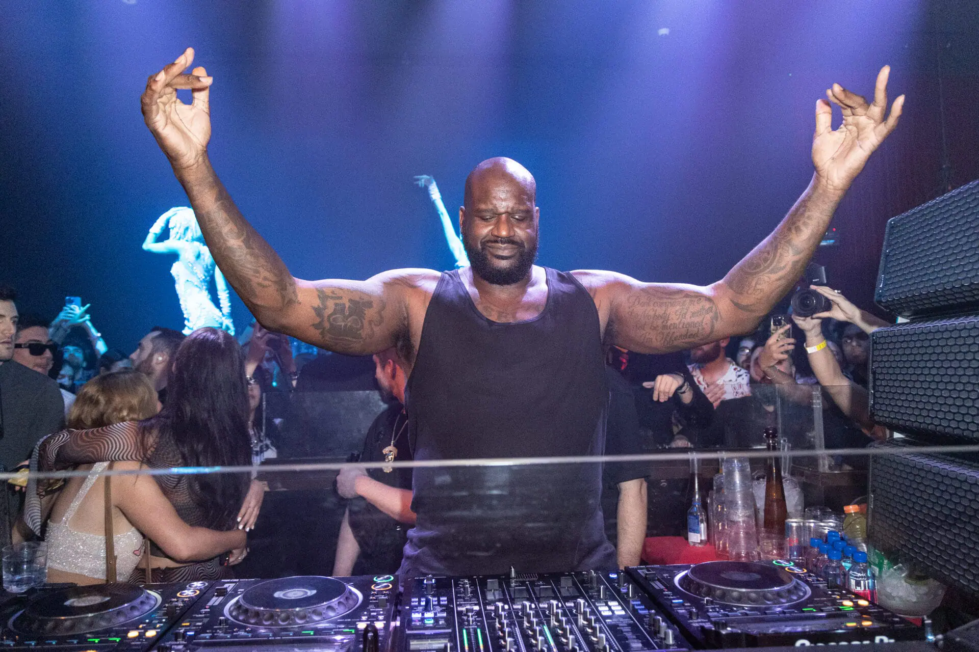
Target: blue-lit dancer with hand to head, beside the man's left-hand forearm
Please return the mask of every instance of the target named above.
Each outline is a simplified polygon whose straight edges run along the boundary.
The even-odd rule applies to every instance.
[[[158,241],[163,229],[170,228],[170,237]],[[175,253],[177,262],[170,267],[176,283],[180,310],[184,314],[183,333],[189,335],[198,328],[213,326],[235,334],[231,323],[231,298],[228,284],[221,270],[214,265],[208,245],[201,235],[194,211],[186,206],[176,206],[163,213],[150,228],[143,240],[143,248],[153,253]],[[218,311],[210,300],[210,277],[217,286]]]

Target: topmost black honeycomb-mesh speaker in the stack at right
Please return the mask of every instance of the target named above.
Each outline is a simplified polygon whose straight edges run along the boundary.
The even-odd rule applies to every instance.
[[[979,307],[979,181],[891,218],[875,300],[908,318]]]

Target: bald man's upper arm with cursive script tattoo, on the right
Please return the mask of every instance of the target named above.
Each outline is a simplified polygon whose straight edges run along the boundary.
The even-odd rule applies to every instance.
[[[637,353],[669,353],[723,338],[722,312],[711,287],[639,283],[608,286],[606,340]]]

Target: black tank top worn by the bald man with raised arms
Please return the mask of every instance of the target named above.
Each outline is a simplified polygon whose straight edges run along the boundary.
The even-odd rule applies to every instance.
[[[545,268],[534,319],[483,316],[457,271],[425,315],[406,409],[416,459],[600,455],[608,403],[594,301]],[[595,463],[415,469],[400,573],[479,575],[612,568]]]

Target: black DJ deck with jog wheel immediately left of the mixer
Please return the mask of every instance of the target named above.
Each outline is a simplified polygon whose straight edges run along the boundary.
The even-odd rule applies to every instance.
[[[387,652],[396,586],[390,575],[213,582],[158,649]]]

